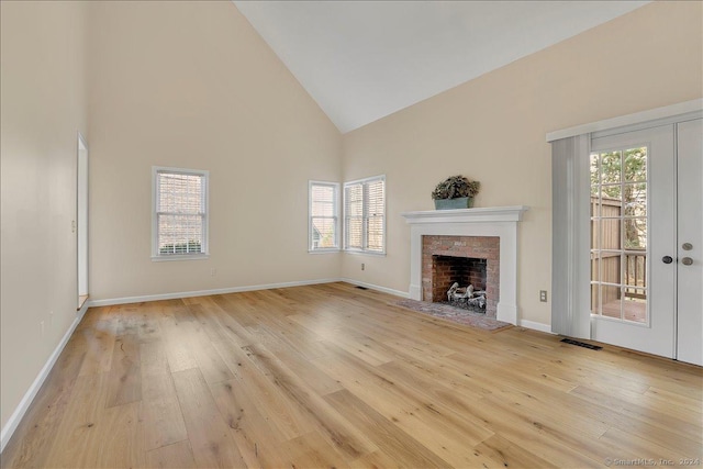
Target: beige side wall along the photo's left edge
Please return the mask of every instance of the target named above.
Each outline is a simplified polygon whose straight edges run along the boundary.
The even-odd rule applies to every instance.
[[[76,317],[85,7],[0,2],[2,427]]]

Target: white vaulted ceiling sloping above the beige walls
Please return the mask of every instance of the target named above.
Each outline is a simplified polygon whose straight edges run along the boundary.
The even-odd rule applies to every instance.
[[[234,1],[346,133],[648,1]]]

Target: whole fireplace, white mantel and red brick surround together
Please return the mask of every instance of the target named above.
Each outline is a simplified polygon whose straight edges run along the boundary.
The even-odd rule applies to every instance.
[[[432,270],[437,260],[443,265],[442,257],[484,259],[487,315],[517,324],[517,224],[526,210],[517,205],[402,213],[410,225],[410,298],[436,301],[445,287],[433,290]]]

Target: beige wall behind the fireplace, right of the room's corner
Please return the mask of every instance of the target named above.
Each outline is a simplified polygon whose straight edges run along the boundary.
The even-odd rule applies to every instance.
[[[343,174],[387,175],[388,255],[343,256],[343,277],[408,291],[410,228],[448,176],[481,181],[478,206],[529,205],[518,306],[550,323],[549,131],[703,96],[701,2],[657,2],[344,135]],[[360,264],[366,270],[360,270]]]

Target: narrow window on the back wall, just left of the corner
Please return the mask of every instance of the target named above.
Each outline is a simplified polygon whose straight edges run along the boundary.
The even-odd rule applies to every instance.
[[[339,185],[310,181],[309,249],[311,253],[339,249]]]

